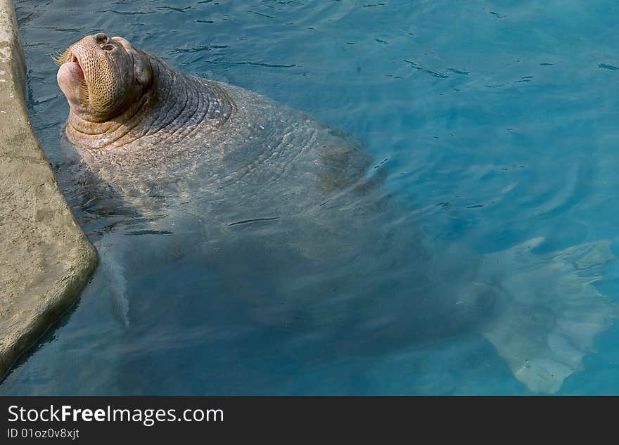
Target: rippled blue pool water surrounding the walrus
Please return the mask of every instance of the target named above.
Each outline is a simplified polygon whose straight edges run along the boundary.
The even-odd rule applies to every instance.
[[[257,91],[361,139],[425,235],[480,254],[609,240],[619,252],[619,6],[566,1],[15,1],[32,123],[79,223],[114,231],[63,176],[68,105],[50,53],[126,37],[185,72]],[[134,240],[135,238],[135,240]],[[125,243],[145,243],[125,237]],[[156,237],[155,237],[156,238]],[[156,240],[152,241],[156,243]],[[136,254],[138,254],[136,252]],[[146,261],[146,259],[145,259]],[[216,271],[126,271],[130,328],[100,267],[1,394],[530,394],[477,333],[328,361],[224,297]],[[594,285],[619,299],[619,265]],[[523,283],[523,286],[526,283]],[[176,299],[167,313],[156,309]],[[559,394],[619,394],[619,327]]]

